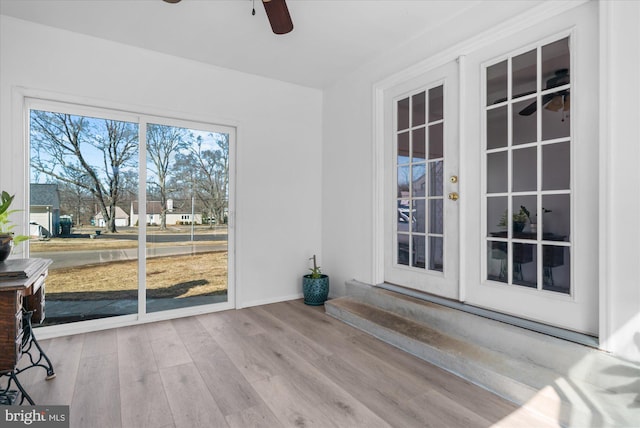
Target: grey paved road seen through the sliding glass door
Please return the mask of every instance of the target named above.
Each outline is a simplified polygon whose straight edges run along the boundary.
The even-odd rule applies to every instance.
[[[147,257],[159,257],[179,254],[196,254],[208,251],[224,251],[227,249],[224,244],[211,245],[181,245],[176,247],[148,248]],[[135,260],[138,258],[137,248],[126,248],[121,250],[88,250],[88,251],[44,251],[34,252],[33,257],[41,257],[53,260],[52,268],[63,268],[82,266],[88,264],[106,263],[118,260]]]

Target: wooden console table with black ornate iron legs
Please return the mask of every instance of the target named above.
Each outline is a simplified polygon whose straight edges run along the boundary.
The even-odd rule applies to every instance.
[[[45,278],[51,260],[15,259],[0,263],[0,404],[20,404],[33,400],[20,384],[17,375],[33,367],[47,371],[46,379],[55,377],[53,366],[42,351],[33,334],[32,323],[41,323],[45,317]],[[18,368],[25,356],[29,361]],[[12,390],[12,384],[18,390]]]

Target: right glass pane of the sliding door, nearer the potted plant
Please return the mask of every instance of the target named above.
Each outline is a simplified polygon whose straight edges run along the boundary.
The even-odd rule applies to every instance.
[[[147,312],[227,301],[228,168],[228,134],[148,125]]]

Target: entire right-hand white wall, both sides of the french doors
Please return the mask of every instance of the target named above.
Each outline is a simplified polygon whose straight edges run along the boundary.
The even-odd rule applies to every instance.
[[[640,211],[640,3],[604,3],[612,19],[608,27],[611,62],[605,67],[612,91],[601,112],[609,123],[601,123],[606,132],[600,142],[608,156],[603,160],[608,168],[599,178],[601,191],[607,194],[600,213],[600,343],[603,349],[640,361],[640,228],[630,226],[637,224]],[[378,278],[372,88],[416,64],[437,63],[443,51],[458,43],[473,45],[485,30],[499,33],[502,23],[515,16],[514,8],[522,4],[501,2],[493,9],[459,16],[455,24],[443,23],[447,31],[411,40],[325,91],[322,243],[323,267],[331,274],[333,296],[344,293],[345,280],[375,283]]]

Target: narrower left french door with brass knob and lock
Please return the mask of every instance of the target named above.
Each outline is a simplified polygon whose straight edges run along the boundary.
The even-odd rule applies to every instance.
[[[458,67],[385,92],[385,281],[458,293]]]

